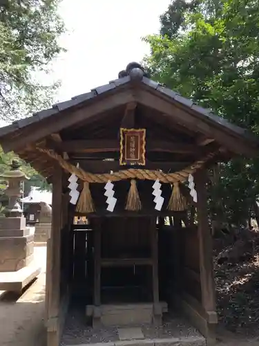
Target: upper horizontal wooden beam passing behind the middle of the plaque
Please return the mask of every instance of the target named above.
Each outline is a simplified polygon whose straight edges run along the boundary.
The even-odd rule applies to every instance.
[[[50,149],[62,152],[119,152],[119,140],[66,140],[62,143],[47,143]],[[171,152],[180,154],[201,153],[202,149],[195,144],[174,143],[165,140],[146,140],[146,151]]]

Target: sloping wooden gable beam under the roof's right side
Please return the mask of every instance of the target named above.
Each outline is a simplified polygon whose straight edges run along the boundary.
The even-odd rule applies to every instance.
[[[184,109],[184,106],[181,106],[180,104],[174,105],[165,98],[158,97],[155,93],[153,94],[141,89],[135,93],[135,99],[137,102],[151,109],[160,111],[161,116],[155,118],[157,122],[159,122],[160,118],[166,118],[170,126],[173,126],[176,122],[179,125],[191,129],[193,132],[204,134],[205,136],[208,136],[208,138],[214,138],[218,143],[220,143],[220,145],[229,149],[231,152],[244,154],[249,157],[258,154],[258,148],[256,145],[252,147],[252,145],[248,144],[242,136],[220,124],[212,124],[209,120],[206,121],[201,119],[192,109],[187,111]]]

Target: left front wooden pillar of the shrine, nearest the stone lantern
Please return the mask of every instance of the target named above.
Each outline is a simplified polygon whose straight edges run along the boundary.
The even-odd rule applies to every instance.
[[[47,346],[59,345],[59,303],[60,303],[60,246],[62,214],[62,170],[55,169],[52,178],[52,226],[47,248],[46,302]]]

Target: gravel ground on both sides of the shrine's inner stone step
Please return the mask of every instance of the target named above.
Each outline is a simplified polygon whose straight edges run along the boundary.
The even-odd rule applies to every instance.
[[[136,327],[140,327],[140,325]],[[147,339],[201,336],[186,320],[172,314],[165,316],[164,324],[161,327],[151,327],[150,325],[142,325],[141,327],[144,338]],[[116,327],[93,329],[93,327],[89,326],[89,321],[87,321],[84,315],[84,310],[79,309],[79,307],[72,307],[68,312],[60,346],[108,343],[118,340],[119,336]]]

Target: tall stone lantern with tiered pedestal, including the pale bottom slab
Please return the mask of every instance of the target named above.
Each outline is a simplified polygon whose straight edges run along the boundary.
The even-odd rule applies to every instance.
[[[8,291],[20,291],[39,273],[35,266],[23,270],[33,263],[34,235],[26,227],[26,218],[18,202],[22,194],[21,182],[28,179],[19,166],[17,160],[12,161],[10,171],[1,175],[8,181],[5,193],[9,203],[6,217],[0,217],[0,290]]]

